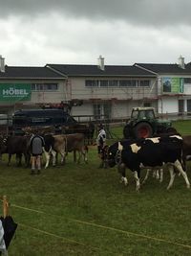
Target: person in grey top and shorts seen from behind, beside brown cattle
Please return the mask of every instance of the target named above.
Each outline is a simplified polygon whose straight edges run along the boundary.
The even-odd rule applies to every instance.
[[[32,135],[30,140],[30,148],[32,152],[32,172],[31,175],[35,174],[35,170],[37,169],[37,175],[40,174],[41,171],[41,157],[43,153],[43,147],[45,147],[45,141],[42,136],[38,135],[37,130]]]

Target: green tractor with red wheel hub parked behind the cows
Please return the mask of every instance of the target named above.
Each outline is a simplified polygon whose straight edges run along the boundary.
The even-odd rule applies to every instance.
[[[134,107],[131,118],[123,128],[123,136],[128,138],[147,138],[155,134],[177,132],[169,120],[159,120],[154,107]]]

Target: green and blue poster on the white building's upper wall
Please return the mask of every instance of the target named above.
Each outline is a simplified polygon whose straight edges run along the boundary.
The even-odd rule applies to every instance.
[[[163,92],[183,93],[182,78],[162,78]]]

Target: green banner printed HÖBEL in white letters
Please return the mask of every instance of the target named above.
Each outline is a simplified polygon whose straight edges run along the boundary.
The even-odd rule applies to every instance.
[[[31,83],[0,83],[0,102],[30,101]]]

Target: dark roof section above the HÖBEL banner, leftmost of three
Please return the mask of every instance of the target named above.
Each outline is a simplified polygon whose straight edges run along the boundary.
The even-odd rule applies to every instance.
[[[48,67],[5,66],[0,79],[63,79],[64,76]]]

